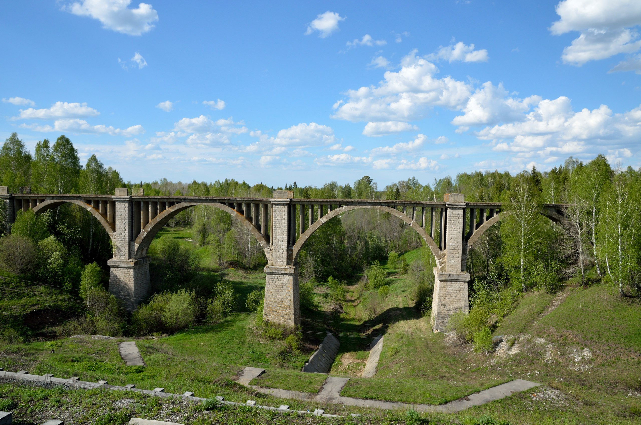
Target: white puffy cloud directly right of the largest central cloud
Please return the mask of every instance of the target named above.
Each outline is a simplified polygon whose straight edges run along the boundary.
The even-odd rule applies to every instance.
[[[508,91],[503,88],[503,84],[495,86],[487,82],[470,96],[463,108],[465,114],[454,117],[452,124],[470,126],[519,120],[522,119],[523,113],[529,110],[530,105],[540,100],[538,96],[524,100],[508,97]]]

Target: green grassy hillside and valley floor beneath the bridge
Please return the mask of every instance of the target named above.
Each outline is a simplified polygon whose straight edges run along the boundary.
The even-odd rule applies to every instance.
[[[201,255],[203,273],[216,273],[208,247],[197,247],[189,240],[188,230],[169,232]],[[404,257],[410,264],[419,261],[420,250]],[[528,293],[494,329],[494,335],[503,338],[497,351],[483,354],[447,334],[431,333],[429,317],[420,317],[413,308],[412,277],[383,267],[388,273],[384,296],[368,290],[363,282],[350,282],[347,301],[337,308],[326,288],[317,286],[317,308],[304,312],[303,351],[295,354],[283,355],[282,342],[257,334],[254,315],[243,311],[247,294],[264,286],[265,275],[227,270],[225,279],[240,294],[238,313],[217,325],[138,339],[147,367],[127,367],[119,357],[117,342],[131,338],[4,343],[0,367],[88,381],[106,379],[117,385],[135,383],[146,389],[162,386],[168,392],[223,395],[233,401],[251,397],[259,403],[306,410],[317,406],[253,394],[233,378],[244,366],[263,367],[267,373],[254,381],[258,385],[318,391],[326,376],[300,370],[329,329],[341,343],[331,375],[350,377],[342,392],[345,396],[442,404],[515,378],[544,384],[533,392],[455,415],[429,415],[435,423],[482,423],[478,418],[483,416],[512,424],[641,421],[641,395],[637,395],[641,394],[641,306],[637,300],[621,299],[606,283],[586,290],[569,287],[561,294]],[[372,378],[358,377],[369,354],[367,346],[379,333],[385,334],[385,343],[378,372]],[[0,399],[13,397],[7,394],[0,388]],[[371,423],[381,420],[380,413],[367,409],[327,406],[326,411],[371,414],[367,419]],[[386,423],[401,421],[403,414],[392,415]]]

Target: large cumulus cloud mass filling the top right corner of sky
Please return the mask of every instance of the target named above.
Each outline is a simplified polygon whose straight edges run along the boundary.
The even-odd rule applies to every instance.
[[[579,31],[571,46],[563,49],[563,62],[581,66],[619,53],[641,49],[638,33],[629,28],[641,24],[637,0],[563,0],[556,5],[560,19],[552,24],[554,35]]]

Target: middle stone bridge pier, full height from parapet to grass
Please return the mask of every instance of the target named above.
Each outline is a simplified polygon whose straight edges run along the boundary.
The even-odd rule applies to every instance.
[[[298,266],[291,264],[292,230],[291,191],[274,191],[272,205],[272,261],[265,267],[265,307],[268,322],[295,327],[301,324]],[[296,211],[296,210],[294,210]],[[296,222],[294,221],[294,224]]]

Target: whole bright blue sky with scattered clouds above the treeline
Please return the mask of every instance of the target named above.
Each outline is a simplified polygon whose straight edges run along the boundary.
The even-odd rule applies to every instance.
[[[0,137],[125,180],[641,166],[638,0],[0,3]]]

